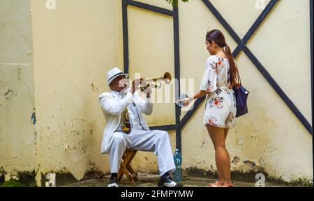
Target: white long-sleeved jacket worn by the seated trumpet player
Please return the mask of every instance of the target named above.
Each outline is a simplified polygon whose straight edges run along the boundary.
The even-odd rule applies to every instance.
[[[144,120],[142,113],[151,115],[153,111],[153,104],[150,99],[144,100],[137,92],[132,95],[130,91],[128,91],[123,98],[112,90],[102,93],[99,96],[99,102],[106,119],[106,127],[103,131],[103,139],[101,141],[101,154],[107,154],[109,152],[113,142],[112,134],[119,127],[121,113],[132,101],[135,103],[137,108],[137,113],[140,117],[140,124],[144,130],[149,131],[149,127],[147,122]]]

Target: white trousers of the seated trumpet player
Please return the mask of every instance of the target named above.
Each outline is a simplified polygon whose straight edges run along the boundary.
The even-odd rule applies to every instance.
[[[130,134],[114,132],[114,141],[109,151],[110,170],[117,173],[124,151],[134,149],[154,152],[158,157],[159,174],[175,170],[170,138],[167,131],[131,130]]]

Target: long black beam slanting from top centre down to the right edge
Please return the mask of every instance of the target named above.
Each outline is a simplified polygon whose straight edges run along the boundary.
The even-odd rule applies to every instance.
[[[308,132],[313,135],[313,127],[311,124],[306,120],[304,115],[299,111],[297,106],[294,105],[292,100],[285,94],[285,92],[281,89],[281,87],[276,83],[276,81],[271,77],[269,72],[264,68],[262,63],[258,61],[258,59],[255,57],[255,55],[251,52],[248,47],[244,44],[244,42],[239,38],[239,35],[232,29],[232,26],[227,23],[227,21],[223,18],[223,16],[218,12],[218,10],[214,7],[214,5],[209,0],[202,0],[204,4],[209,8],[211,13],[214,14],[216,19],[220,22],[221,25],[227,30],[227,32],[232,36],[235,42],[241,47],[241,49],[244,51],[246,56],[252,61],[252,63],[257,67],[257,70],[260,71],[260,73],[264,76],[265,79],[269,82],[272,88],[278,93],[278,95],[283,99],[283,102],[287,104],[287,106],[290,108],[290,110],[296,115],[296,117],[299,119],[299,121],[304,125],[304,127],[308,130]]]

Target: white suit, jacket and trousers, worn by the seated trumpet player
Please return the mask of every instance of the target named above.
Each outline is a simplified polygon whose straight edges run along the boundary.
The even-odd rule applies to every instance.
[[[118,172],[122,155],[130,148],[154,152],[158,156],[160,175],[175,170],[169,135],[166,131],[150,131],[142,115],[151,115],[153,111],[153,104],[149,99],[142,99],[136,92],[132,95],[129,91],[120,94],[111,90],[101,94],[99,101],[107,122],[101,142],[101,153],[109,154],[112,173]],[[121,113],[126,108],[132,124],[130,134],[119,129]]]

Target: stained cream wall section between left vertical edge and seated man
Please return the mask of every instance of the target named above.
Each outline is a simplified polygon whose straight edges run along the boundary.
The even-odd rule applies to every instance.
[[[31,1],[35,77],[37,180],[47,172],[108,172],[100,154],[105,119],[98,95],[121,60],[119,1]]]

